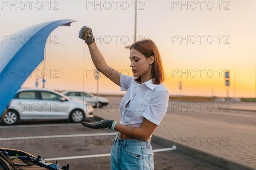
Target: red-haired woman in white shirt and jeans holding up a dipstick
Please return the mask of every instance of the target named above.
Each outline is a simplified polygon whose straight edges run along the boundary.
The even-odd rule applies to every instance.
[[[91,28],[82,27],[79,38],[87,43],[97,70],[126,91],[120,103],[120,123],[105,119],[82,125],[94,129],[109,127],[119,132],[111,150],[111,170],[154,170],[151,136],[160,125],[169,101],[169,92],[161,83],[164,75],[157,46],[149,39],[131,45],[133,77],[130,77],[107,65]]]

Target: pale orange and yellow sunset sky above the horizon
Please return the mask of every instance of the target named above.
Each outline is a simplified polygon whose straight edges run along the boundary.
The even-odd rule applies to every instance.
[[[96,92],[95,67],[78,38],[84,25],[93,29],[108,65],[132,75],[125,46],[134,41],[134,1],[12,1],[12,6],[10,2],[1,1],[1,43],[4,35],[37,23],[77,21],[56,28],[49,36],[46,88]],[[181,81],[182,95],[211,96],[213,89],[214,96],[227,96],[224,71],[228,69],[230,96],[256,97],[256,1],[184,0],[184,6],[171,0],[137,3],[137,39],[150,38],[159,48],[170,95],[180,94]],[[37,78],[42,87],[42,69],[43,63],[23,87],[35,87]],[[104,76],[99,79],[99,93],[124,94]]]

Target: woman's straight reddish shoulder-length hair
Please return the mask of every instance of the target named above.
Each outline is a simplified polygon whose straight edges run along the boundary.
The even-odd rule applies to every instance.
[[[161,82],[163,82],[163,65],[157,45],[150,39],[144,39],[135,42],[133,45],[131,45],[130,50],[132,48],[134,48],[137,51],[140,51],[147,58],[154,56],[154,62],[152,64],[151,70],[153,84],[159,85]],[[134,80],[140,82],[141,77],[136,77],[136,79]]]

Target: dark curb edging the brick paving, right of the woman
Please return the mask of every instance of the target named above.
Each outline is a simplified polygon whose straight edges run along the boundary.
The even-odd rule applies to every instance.
[[[212,155],[210,153],[206,153],[204,151],[179,144],[177,142],[172,142],[171,140],[164,139],[164,138],[156,136],[154,134],[152,135],[151,141],[155,142],[157,144],[162,144],[166,147],[172,147],[173,145],[175,145],[177,147],[177,150],[179,150],[183,153],[189,154],[191,156],[195,156],[195,157],[203,159],[205,161],[209,161],[209,162],[211,162],[213,164],[217,164],[221,167],[226,167],[230,170],[255,170],[254,168],[248,167],[247,165],[239,164],[237,162],[230,161],[228,159],[224,159],[219,156]]]

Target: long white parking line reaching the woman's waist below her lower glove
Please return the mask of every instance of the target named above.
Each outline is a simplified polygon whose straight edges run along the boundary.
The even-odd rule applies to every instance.
[[[26,137],[7,137],[0,138],[2,140],[17,140],[17,139],[43,139],[43,138],[69,138],[69,137],[84,137],[84,136],[106,136],[106,135],[116,135],[117,132],[111,133],[88,133],[88,134],[73,134],[73,135],[51,135],[51,136],[26,136]]]

